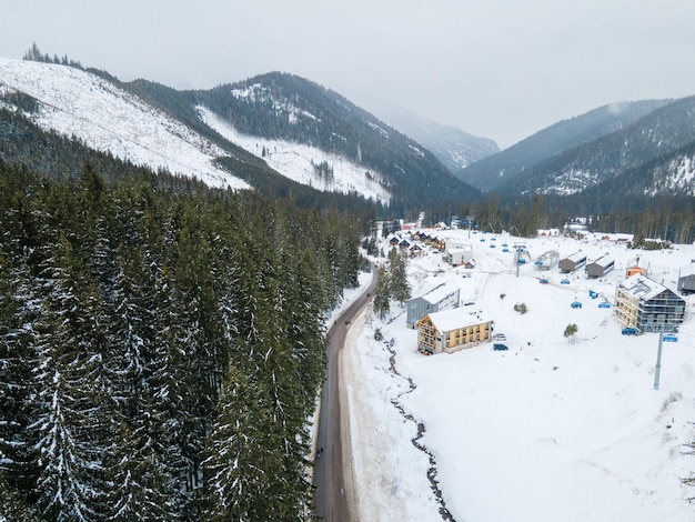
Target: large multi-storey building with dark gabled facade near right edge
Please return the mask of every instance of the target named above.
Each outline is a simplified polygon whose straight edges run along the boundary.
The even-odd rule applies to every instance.
[[[685,301],[666,287],[635,274],[615,291],[615,315],[637,332],[676,331],[685,320]]]

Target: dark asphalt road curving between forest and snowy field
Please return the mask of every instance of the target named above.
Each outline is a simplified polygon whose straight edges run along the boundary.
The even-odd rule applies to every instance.
[[[376,287],[376,270],[372,270],[372,283],[338,318],[329,329],[326,380],[321,392],[313,482],[314,514],[326,522],[351,522],[356,519],[353,476],[350,456],[350,426],[346,418],[345,394],[340,379],[340,353],[348,329],[354,318],[370,301]],[[350,323],[346,323],[350,321]],[[344,408],[344,410],[341,410]]]

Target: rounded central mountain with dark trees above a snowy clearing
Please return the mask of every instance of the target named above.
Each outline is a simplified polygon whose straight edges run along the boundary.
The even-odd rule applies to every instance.
[[[313,154],[313,164],[333,172],[350,163],[354,169],[352,185],[365,180],[377,183],[393,197],[395,208],[401,202],[410,205],[419,201],[426,207],[480,195],[421,143],[341,94],[303,78],[272,72],[200,92],[198,100],[209,111],[204,118],[208,124],[223,135],[253,137],[245,147],[249,150],[253,145],[251,150],[259,155],[265,148],[269,164],[279,165],[292,154],[303,161]],[[314,152],[301,152],[294,144]],[[326,180],[319,177],[314,182]]]

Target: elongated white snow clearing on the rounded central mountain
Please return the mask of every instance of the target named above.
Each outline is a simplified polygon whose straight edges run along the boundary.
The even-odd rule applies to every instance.
[[[265,149],[266,155],[263,159],[268,165],[298,183],[328,192],[354,192],[386,204],[391,199],[386,189],[379,183],[380,177],[375,177],[374,172],[371,172],[372,178],[367,177],[366,169],[353,161],[302,143],[242,134],[211,110],[199,107],[198,111],[207,126],[235,145],[258,157]],[[330,182],[319,178],[312,165],[323,162],[333,168],[333,180]]]

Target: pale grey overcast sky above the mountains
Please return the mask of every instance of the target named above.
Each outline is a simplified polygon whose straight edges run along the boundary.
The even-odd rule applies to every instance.
[[[606,103],[695,94],[693,0],[4,3],[3,58],[36,42],[179,89],[291,72],[501,148]]]

